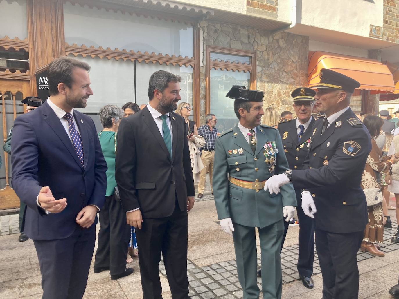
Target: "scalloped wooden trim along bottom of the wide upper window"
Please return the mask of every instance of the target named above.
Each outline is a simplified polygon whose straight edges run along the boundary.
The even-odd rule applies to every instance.
[[[177,56],[176,55],[162,55],[162,54],[155,54],[153,53],[148,53],[144,52],[141,53],[141,51],[134,52],[133,50],[126,51],[123,49],[120,51],[118,48],[115,50],[111,50],[109,47],[107,49],[104,49],[103,47],[98,47],[95,48],[94,46],[91,47],[86,47],[85,45],[82,45],[79,47],[76,43],[73,45],[69,45],[68,43],[65,43],[65,52],[66,54],[73,54],[75,57],[77,55],[82,55],[83,57],[91,57],[95,58],[96,56],[99,57],[100,59],[103,59],[104,57],[110,60],[111,58],[114,58],[116,60],[122,59],[123,61],[130,60],[130,61],[138,61],[142,62],[144,61],[145,63],[166,63],[166,65],[180,65],[180,66],[191,66],[194,67],[195,61],[194,58],[188,58],[182,57],[181,55]]]

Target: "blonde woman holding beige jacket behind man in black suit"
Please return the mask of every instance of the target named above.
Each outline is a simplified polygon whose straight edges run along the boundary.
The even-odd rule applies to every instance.
[[[187,102],[182,102],[177,106],[175,113],[183,116],[187,124],[187,139],[188,148],[190,149],[191,168],[193,169],[194,183],[199,181],[199,172],[204,169],[201,156],[199,155],[199,148],[205,145],[205,140],[202,136],[198,135],[196,122],[189,120],[191,115],[191,106]]]

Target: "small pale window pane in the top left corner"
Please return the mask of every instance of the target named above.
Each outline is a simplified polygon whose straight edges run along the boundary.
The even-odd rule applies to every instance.
[[[10,39],[28,37],[28,18],[26,0],[0,0],[1,26],[0,38]]]

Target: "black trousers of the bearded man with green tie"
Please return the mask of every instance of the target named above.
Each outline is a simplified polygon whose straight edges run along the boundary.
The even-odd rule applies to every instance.
[[[189,299],[187,278],[188,215],[176,202],[171,216],[144,218],[136,229],[144,299],[162,299],[159,279],[161,252],[173,299]]]

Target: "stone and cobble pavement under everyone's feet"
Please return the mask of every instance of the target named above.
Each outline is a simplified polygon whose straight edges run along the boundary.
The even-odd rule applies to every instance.
[[[392,203],[394,205],[394,203]],[[377,258],[358,252],[360,272],[359,298],[388,299],[387,289],[397,283],[399,275],[399,244],[390,241],[397,228],[394,211],[389,211],[392,229],[385,229],[381,250],[385,257]],[[97,230],[98,230],[97,226]],[[41,275],[32,240],[18,242],[18,214],[0,216],[0,298],[41,298]],[[196,198],[194,209],[189,214],[188,279],[192,299],[240,299],[243,291],[237,277],[233,242],[221,231],[217,220],[213,196],[205,189],[202,199]],[[315,252],[314,289],[306,289],[296,269],[298,258],[298,226],[288,229],[281,253],[283,274],[283,299],[322,297],[322,276]],[[93,258],[94,261],[94,258]],[[258,265],[260,266],[258,240]],[[93,262],[92,262],[93,265]],[[134,273],[112,281],[108,271],[94,274],[91,269],[84,299],[132,298],[141,299],[140,269],[134,258],[128,267]],[[164,299],[171,293],[164,264],[160,262],[160,280]],[[261,289],[261,278],[258,277]],[[260,296],[262,298],[262,295]]]

